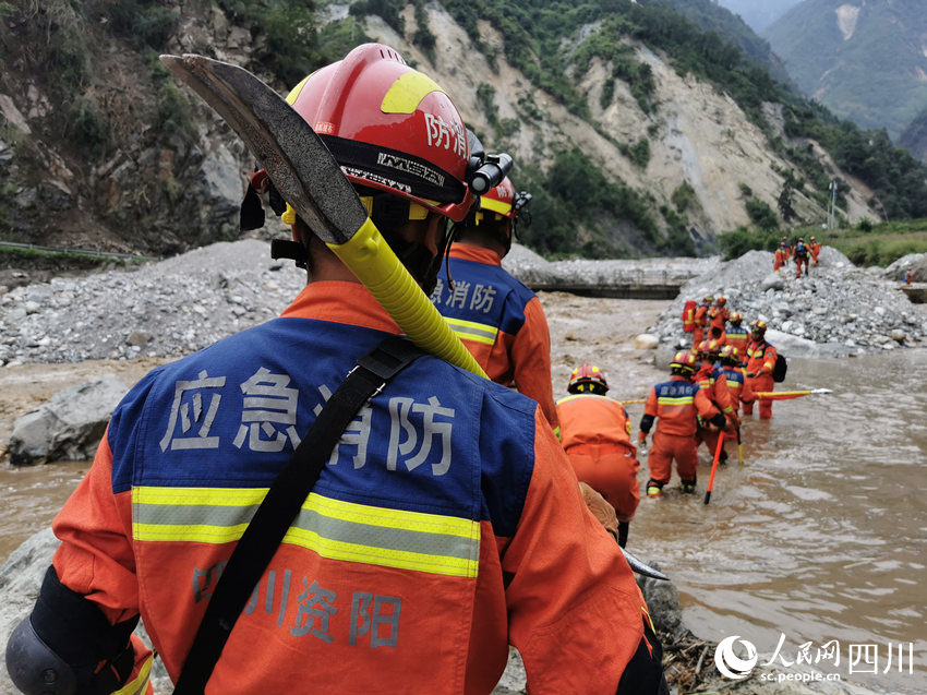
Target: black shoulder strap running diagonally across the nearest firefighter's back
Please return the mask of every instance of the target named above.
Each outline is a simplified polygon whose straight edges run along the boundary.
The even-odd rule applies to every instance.
[[[222,571],[183,663],[174,695],[200,695],[254,586],[361,406],[424,352],[390,336],[358,360],[280,471]]]

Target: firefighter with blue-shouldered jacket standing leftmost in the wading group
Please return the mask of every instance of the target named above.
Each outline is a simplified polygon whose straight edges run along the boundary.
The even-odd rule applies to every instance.
[[[695,369],[695,355],[688,350],[676,352],[670,363],[670,381],[653,386],[643,406],[638,432],[639,445],[647,443],[647,436],[657,421],[653,446],[647,458],[650,467],[648,498],[663,496],[663,488],[673,475],[673,460],[676,462],[682,492],[694,493],[698,465],[695,441],[698,418],[715,427],[724,427],[724,416],[711,405],[706,392],[693,383]]]

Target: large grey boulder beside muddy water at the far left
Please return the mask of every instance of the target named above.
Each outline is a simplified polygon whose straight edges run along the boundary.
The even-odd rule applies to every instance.
[[[127,391],[116,374],[59,391],[13,424],[10,463],[33,466],[93,458],[109,418]]]

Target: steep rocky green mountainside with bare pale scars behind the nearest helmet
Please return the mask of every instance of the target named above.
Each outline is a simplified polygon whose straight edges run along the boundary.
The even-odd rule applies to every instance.
[[[158,52],[229,60],[286,92],[353,45],[393,45],[452,94],[491,149],[515,155],[516,184],[535,193],[525,240],[547,252],[691,252],[694,239],[710,243],[757,211],[776,224],[786,189],[796,212],[786,223],[822,221],[833,178],[846,219],[875,219],[869,185],[906,172],[871,164],[890,151],[862,134],[852,156],[829,154],[836,127],[736,48],[628,0],[567,12],[543,0],[364,0],[317,12],[49,0],[0,3],[0,238],[13,241],[162,254],[238,235],[252,157]],[[275,221],[267,230],[286,235]]]

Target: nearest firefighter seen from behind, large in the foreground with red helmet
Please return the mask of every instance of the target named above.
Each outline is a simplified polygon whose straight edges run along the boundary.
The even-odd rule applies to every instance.
[[[430,292],[448,223],[472,200],[448,96],[366,44],[289,101]],[[438,119],[449,136],[436,141]],[[8,644],[26,693],[50,680],[145,692],[152,655],[129,637],[140,613],[177,681],[268,486],[359,358],[399,333],[292,208],[287,219],[308,284],[284,314],[152,371],[117,407]],[[534,692],[666,693],[631,571],[537,404],[431,356],[384,382],[323,454],[205,692],[490,693],[510,643]]]

